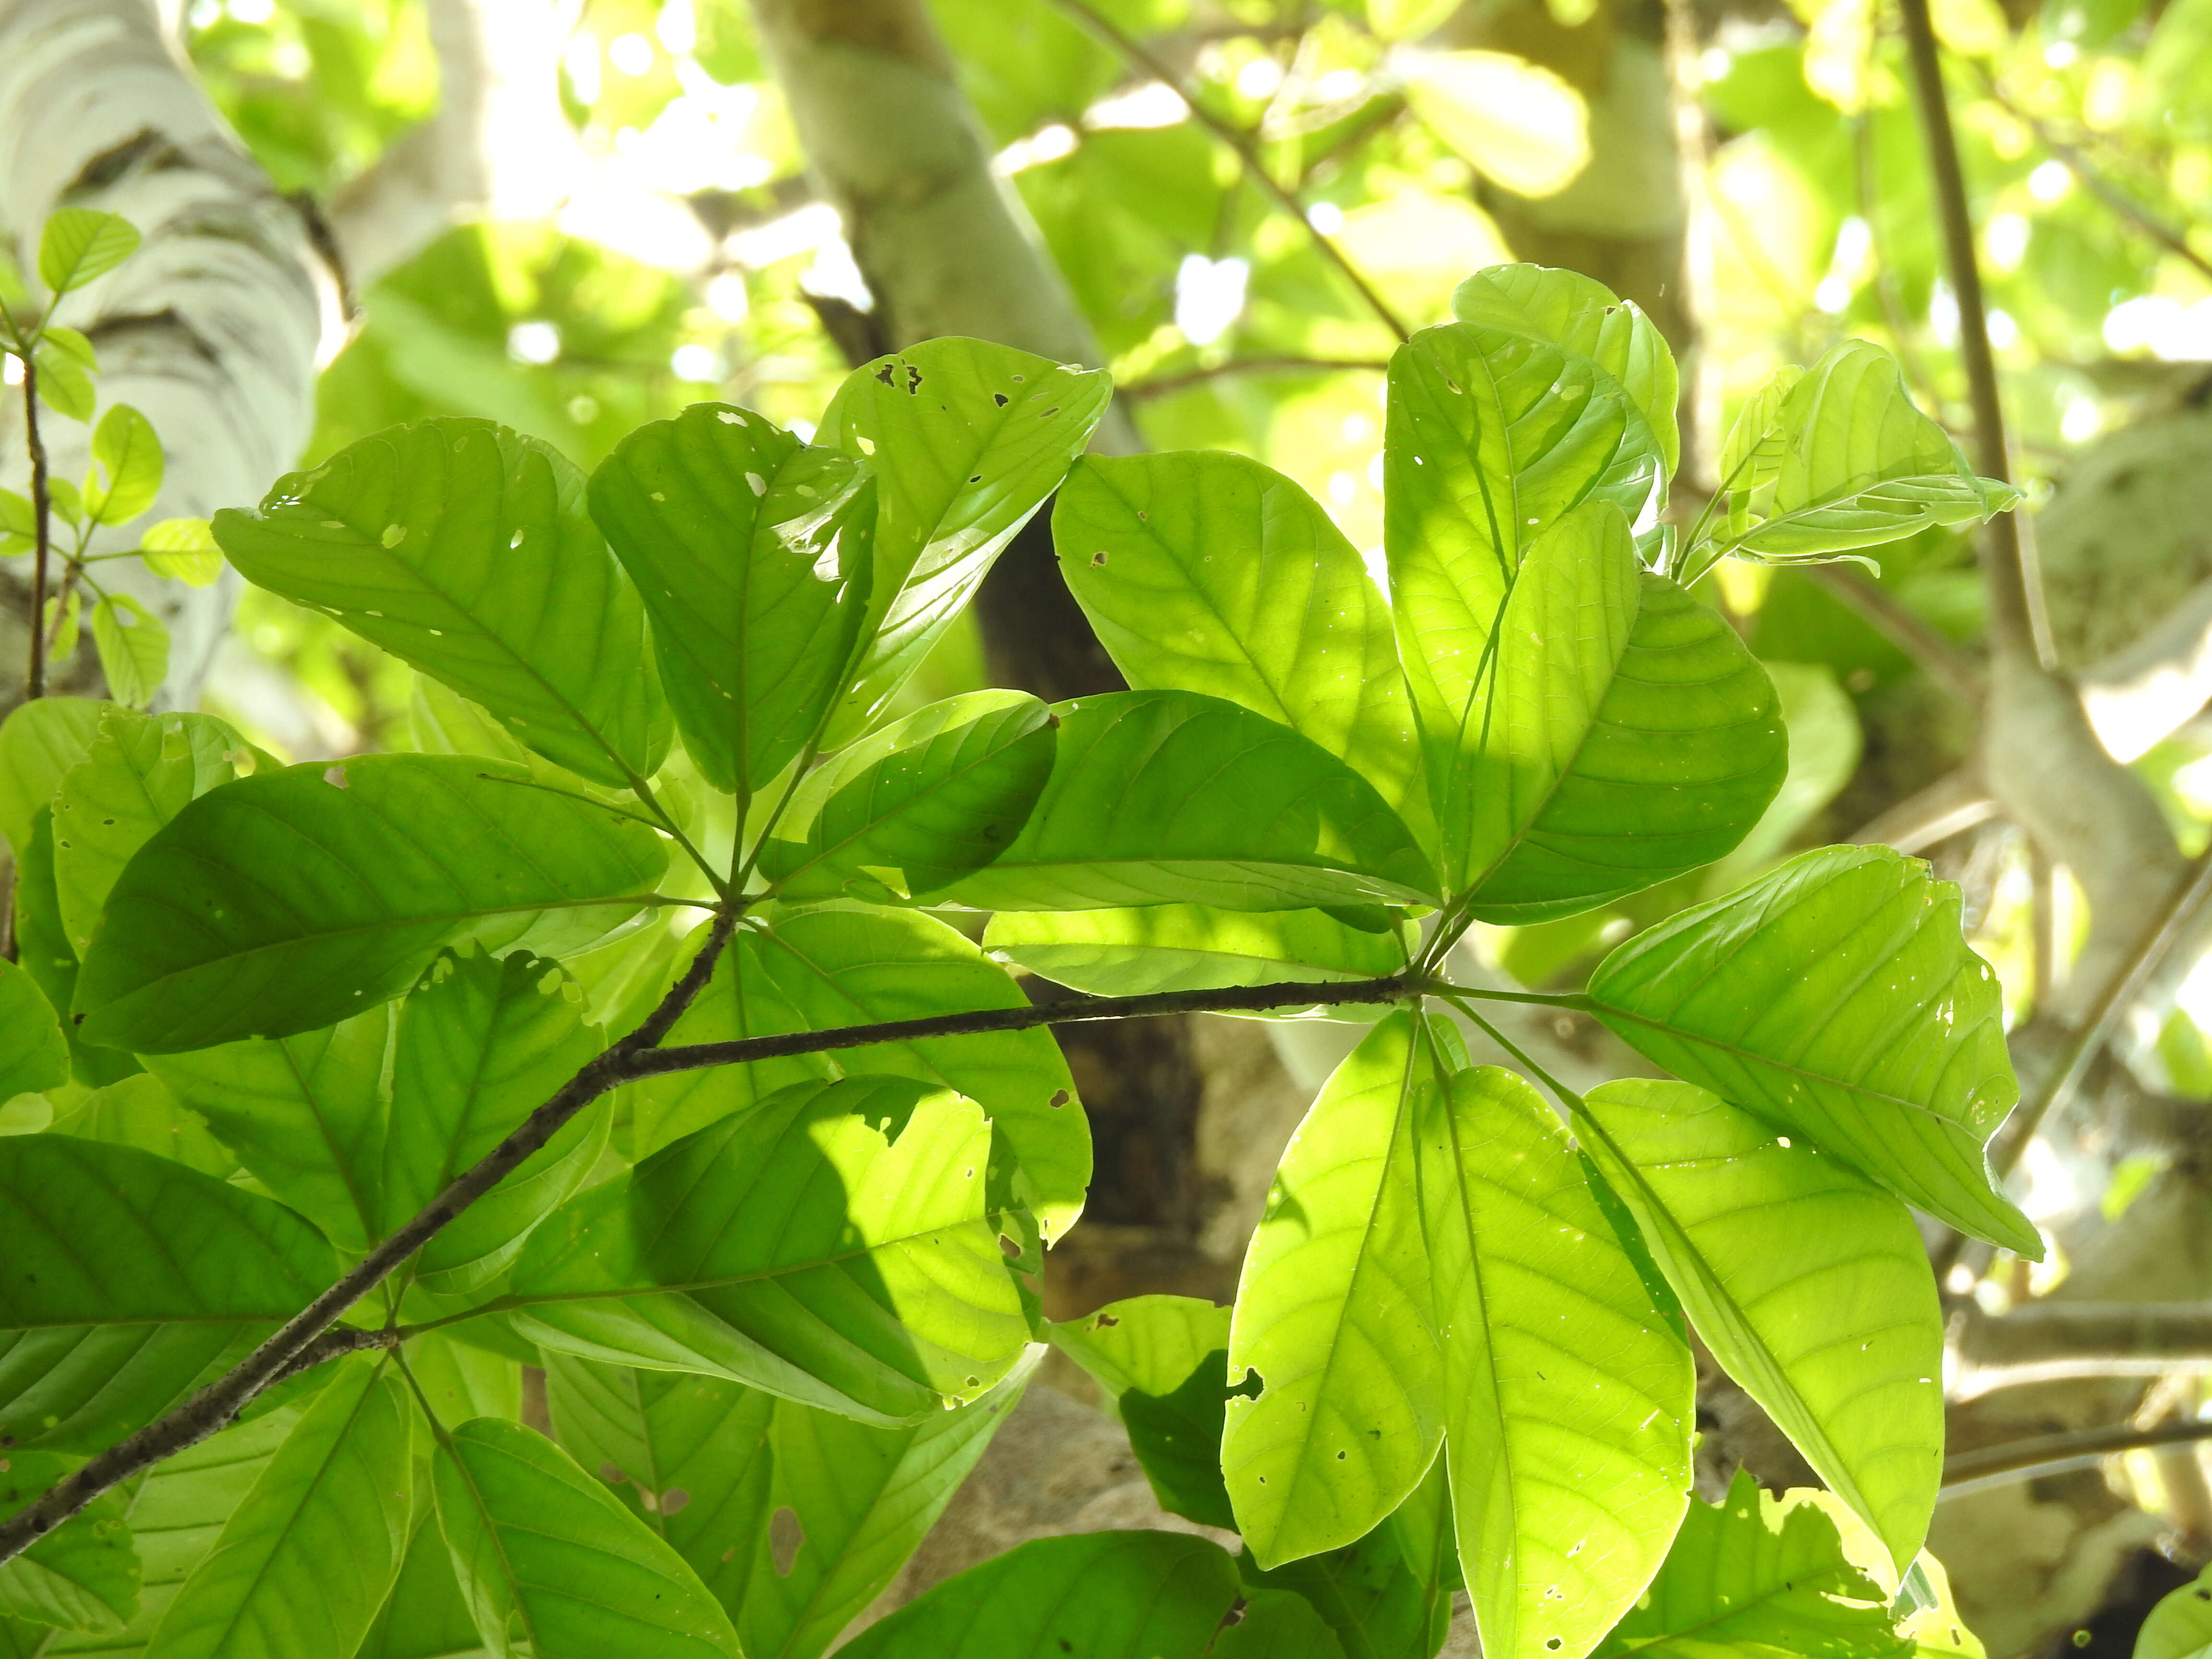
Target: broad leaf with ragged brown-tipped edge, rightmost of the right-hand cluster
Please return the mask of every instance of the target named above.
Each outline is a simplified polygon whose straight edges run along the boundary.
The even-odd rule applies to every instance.
[[[1958,902],[1889,847],[1801,854],[1613,951],[1593,1013],[1677,1077],[2039,1261],[1982,1152],[2020,1084]]]

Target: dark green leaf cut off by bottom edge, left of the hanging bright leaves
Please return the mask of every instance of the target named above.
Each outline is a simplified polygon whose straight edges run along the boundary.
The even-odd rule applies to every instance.
[[[869,1626],[841,1659],[1201,1659],[1237,1566],[1183,1533],[1040,1537]]]

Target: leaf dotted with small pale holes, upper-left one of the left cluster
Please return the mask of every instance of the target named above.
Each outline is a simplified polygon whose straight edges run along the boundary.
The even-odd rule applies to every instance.
[[[637,588],[584,476],[535,438],[392,427],[279,478],[254,513],[217,513],[215,540],[248,582],[327,611],[593,783],[633,785],[668,752]]]

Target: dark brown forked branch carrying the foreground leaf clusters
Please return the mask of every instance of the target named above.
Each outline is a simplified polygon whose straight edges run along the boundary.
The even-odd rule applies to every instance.
[[[325,1338],[332,1325],[367,1296],[385,1276],[405,1263],[416,1250],[438,1237],[471,1203],[507,1179],[524,1159],[544,1146],[584,1106],[617,1084],[637,1077],[657,1077],[672,1071],[699,1071],[703,1066],[739,1066],[750,1060],[776,1060],[783,1055],[810,1055],[830,1048],[863,1048],[878,1042],[911,1042],[916,1037],[958,1037],[991,1031],[1031,1031],[1035,1026],[1073,1024],[1084,1020],[1137,1020],[1161,1013],[1256,1013],[1263,1009],[1290,1009],[1305,1004],[1374,1004],[1398,1002],[1418,995],[1411,975],[1387,980],[1312,982],[1296,980],[1283,984],[1232,987],[1225,991],[1164,991],[1139,998],[1079,998],[1024,1009],[980,1009],[975,1013],[947,1013],[933,1020],[898,1020],[880,1026],[845,1026],[838,1031],[799,1031],[774,1037],[748,1037],[741,1042],[701,1042],[681,1048],[653,1048],[648,1044],[668,1035],[675,1022],[692,1004],[714,971],[714,960],[728,942],[734,918],[723,914],[706,947],[692,958],[684,978],[661,1000],[653,1015],[628,1037],[604,1055],[586,1064],[575,1077],[522,1126],[500,1141],[480,1164],[456,1177],[445,1192],[431,1199],[429,1208],[407,1221],[398,1232],[376,1245],[338,1283],[316,1296],[294,1314],[261,1347],[246,1356],[226,1376],[217,1378],[168,1416],[146,1425],[128,1440],[108,1447],[86,1462],[64,1482],[53,1486],[29,1509],[0,1522],[0,1562],[7,1562],[38,1542],[44,1533],[84,1509],[93,1498],[122,1484],[164,1458],[199,1444],[210,1433],[237,1420],[237,1413],[261,1391],[274,1387],[285,1376],[305,1369],[307,1354]],[[398,1340],[378,1332],[343,1334],[327,1343],[323,1358],[378,1347]]]

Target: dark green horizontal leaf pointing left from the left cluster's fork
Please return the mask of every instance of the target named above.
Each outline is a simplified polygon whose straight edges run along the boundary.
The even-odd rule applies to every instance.
[[[77,980],[84,1040],[288,1037],[407,989],[440,945],[557,953],[635,916],[668,867],[653,830],[522,776],[376,754],[201,796],[108,896]]]

